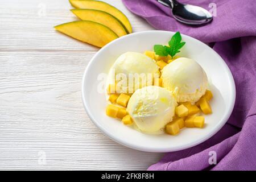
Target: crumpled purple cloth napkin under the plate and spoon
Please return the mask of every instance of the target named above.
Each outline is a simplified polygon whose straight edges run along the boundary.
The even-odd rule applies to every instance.
[[[187,150],[167,153],[149,170],[256,170],[256,1],[180,0],[210,10],[216,17],[204,26],[172,18],[156,0],[123,0],[126,7],[159,30],[180,31],[209,45],[225,60],[236,82],[236,104],[226,125],[212,138]],[[218,71],[216,70],[216,74]],[[221,80],[220,80],[221,81]],[[209,152],[217,164],[209,164]]]

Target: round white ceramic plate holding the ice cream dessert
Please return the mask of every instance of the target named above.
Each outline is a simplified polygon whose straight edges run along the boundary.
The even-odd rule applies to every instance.
[[[155,44],[168,44],[172,35],[174,32],[144,31],[123,36],[100,49],[86,67],[82,78],[82,102],[85,110],[103,133],[124,146],[147,152],[184,150],[216,134],[232,113],[236,88],[228,66],[212,48],[190,36],[182,35],[186,44],[179,55],[196,60],[204,68],[214,95],[210,101],[213,114],[205,115],[204,129],[182,129],[176,136],[149,135],[131,129],[105,114],[108,102],[105,94],[98,92],[102,84],[102,80],[98,80],[100,73],[108,73],[115,59],[122,53],[152,50]]]

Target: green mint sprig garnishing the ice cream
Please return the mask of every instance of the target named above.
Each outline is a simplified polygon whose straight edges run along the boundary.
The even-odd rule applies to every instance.
[[[170,55],[173,58],[176,55],[176,53],[180,52],[179,49],[181,49],[181,47],[185,45],[185,42],[181,42],[180,32],[176,32],[174,36],[172,36],[168,44],[169,46],[155,45],[155,54],[159,56]]]

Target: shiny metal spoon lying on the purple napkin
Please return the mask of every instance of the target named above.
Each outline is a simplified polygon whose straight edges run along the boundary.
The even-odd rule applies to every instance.
[[[164,6],[170,7],[176,20],[185,24],[204,24],[212,20],[212,14],[203,7],[185,5],[176,0],[157,0]]]

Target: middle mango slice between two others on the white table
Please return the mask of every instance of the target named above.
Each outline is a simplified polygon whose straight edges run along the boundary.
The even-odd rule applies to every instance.
[[[109,27],[119,37],[126,35],[126,30],[122,26],[122,23],[119,22],[117,18],[110,15],[109,13],[106,13],[105,11],[89,10],[89,9],[75,9],[71,11],[81,20],[97,22],[105,25],[106,27]]]

